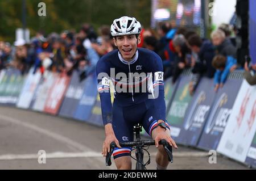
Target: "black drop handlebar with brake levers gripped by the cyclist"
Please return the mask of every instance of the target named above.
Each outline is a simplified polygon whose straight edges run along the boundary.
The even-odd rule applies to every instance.
[[[155,140],[139,140],[139,141],[129,141],[129,142],[120,142],[119,145],[121,147],[143,147],[148,145],[155,145]],[[160,140],[159,145],[164,146],[164,150],[166,150],[166,153],[168,155],[168,161],[173,162],[173,156],[172,156],[172,146],[168,144],[166,140]],[[106,155],[106,166],[112,165],[111,162],[111,155],[113,154],[114,148],[117,147],[115,142],[112,142],[110,144],[110,152]]]

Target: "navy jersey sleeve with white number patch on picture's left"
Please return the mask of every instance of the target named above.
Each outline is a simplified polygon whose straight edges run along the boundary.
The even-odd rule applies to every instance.
[[[112,123],[112,103],[110,95],[110,67],[105,60],[101,59],[97,62],[96,73],[98,81],[98,92],[101,100],[101,113],[103,124]]]

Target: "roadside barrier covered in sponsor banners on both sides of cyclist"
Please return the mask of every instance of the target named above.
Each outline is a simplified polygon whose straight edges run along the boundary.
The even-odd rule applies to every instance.
[[[217,150],[256,167],[256,86],[250,86],[238,70],[229,74],[224,87],[217,92],[213,79],[203,77],[191,96],[191,77],[188,69],[174,84],[171,78],[165,81],[166,117],[174,140]],[[32,69],[27,75],[15,69],[2,70],[0,104],[102,126],[96,73],[80,80],[77,71],[68,77],[48,71],[33,74]]]

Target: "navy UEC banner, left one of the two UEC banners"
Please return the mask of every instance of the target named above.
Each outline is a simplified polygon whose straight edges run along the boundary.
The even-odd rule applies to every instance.
[[[197,145],[215,95],[213,79],[203,77],[185,112],[184,122],[179,127],[180,134],[176,138],[177,142]]]

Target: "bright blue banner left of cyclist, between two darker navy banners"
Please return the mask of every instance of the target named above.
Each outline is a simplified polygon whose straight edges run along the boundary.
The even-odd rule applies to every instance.
[[[89,119],[92,108],[96,102],[97,96],[97,78],[96,73],[86,78],[84,93],[80,99],[74,118],[86,121]]]

